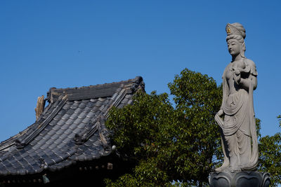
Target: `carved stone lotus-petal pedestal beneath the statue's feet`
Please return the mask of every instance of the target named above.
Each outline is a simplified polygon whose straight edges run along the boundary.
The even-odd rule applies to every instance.
[[[211,187],[269,187],[270,175],[261,172],[212,172]]]

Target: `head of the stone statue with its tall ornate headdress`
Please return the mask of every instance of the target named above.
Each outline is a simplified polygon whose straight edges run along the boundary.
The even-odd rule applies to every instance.
[[[228,23],[226,25],[226,33],[228,34],[226,42],[228,43],[230,55],[241,55],[241,57],[245,57],[246,46],[244,39],[246,38],[246,30],[244,27],[239,22],[233,24]]]

